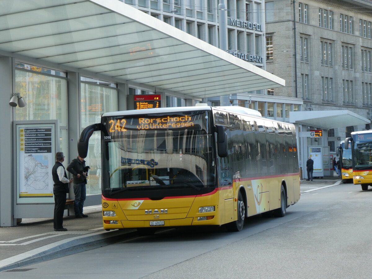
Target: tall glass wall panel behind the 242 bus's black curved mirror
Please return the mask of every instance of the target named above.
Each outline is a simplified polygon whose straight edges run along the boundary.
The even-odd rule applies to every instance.
[[[88,125],[100,123],[102,113],[118,110],[118,92],[116,88],[83,82],[80,83],[80,87],[81,131]],[[90,138],[88,155],[85,161],[86,166],[90,167],[87,179],[87,195],[101,193],[100,133],[93,133]]]

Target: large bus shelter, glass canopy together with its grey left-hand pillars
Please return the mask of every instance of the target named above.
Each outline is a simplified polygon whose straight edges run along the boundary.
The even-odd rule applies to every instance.
[[[0,26],[0,153],[9,159],[0,164],[1,226],[32,218],[31,213],[50,217],[54,207],[16,203],[15,110],[9,105],[16,93],[15,61],[75,74],[75,83],[68,84],[71,140],[80,134],[78,120],[73,122],[79,119],[79,75],[194,100],[285,85],[283,79],[118,0],[1,0]],[[76,154],[71,140],[69,153]],[[99,202],[100,195],[87,196],[86,205]],[[15,210],[17,206],[22,210]]]

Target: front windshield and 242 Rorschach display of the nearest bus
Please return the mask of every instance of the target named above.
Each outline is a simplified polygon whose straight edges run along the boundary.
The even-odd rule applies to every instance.
[[[103,196],[199,195],[215,187],[215,151],[208,113],[110,116],[102,119]]]

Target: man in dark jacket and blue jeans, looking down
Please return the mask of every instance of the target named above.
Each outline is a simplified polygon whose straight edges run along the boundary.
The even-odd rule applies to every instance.
[[[67,170],[73,175],[74,182],[74,210],[76,218],[88,217],[88,215],[83,214],[84,201],[87,195],[87,176],[89,166],[85,166],[85,158],[77,156],[76,159],[67,166]]]

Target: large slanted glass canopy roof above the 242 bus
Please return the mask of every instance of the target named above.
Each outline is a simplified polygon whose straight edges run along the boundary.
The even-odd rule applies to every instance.
[[[188,98],[285,85],[118,0],[1,0],[0,55],[32,58]]]

